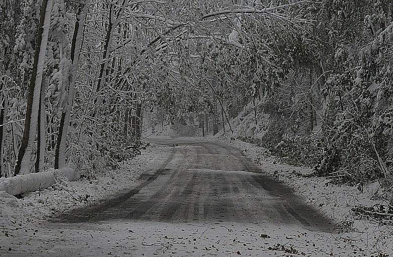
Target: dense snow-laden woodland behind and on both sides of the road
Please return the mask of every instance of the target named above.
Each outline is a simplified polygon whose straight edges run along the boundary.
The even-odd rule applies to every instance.
[[[94,176],[138,152],[151,112],[208,120],[317,175],[391,184],[390,0],[0,5],[1,176],[71,162]]]

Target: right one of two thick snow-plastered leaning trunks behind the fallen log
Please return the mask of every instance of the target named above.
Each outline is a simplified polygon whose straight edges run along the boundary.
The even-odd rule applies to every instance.
[[[59,124],[59,133],[56,142],[55,157],[54,157],[55,169],[65,167],[65,149],[66,149],[65,143],[67,141],[71,109],[74,102],[75,82],[78,73],[79,54],[81,52],[82,34],[85,26],[85,17],[89,6],[89,1],[90,0],[86,0],[86,2],[84,4],[81,4],[78,9],[77,21],[75,23],[74,35],[71,42],[71,53],[70,53],[71,54],[71,79],[68,88],[67,105],[65,106],[65,108],[61,113],[61,119]]]

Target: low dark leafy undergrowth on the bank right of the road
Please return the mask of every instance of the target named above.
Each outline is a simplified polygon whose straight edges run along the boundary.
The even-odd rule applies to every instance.
[[[323,142],[314,136],[289,140],[278,138],[277,135],[237,137],[243,142],[266,148],[286,164],[313,168],[314,175],[329,178],[333,184],[356,185],[362,191],[370,181],[380,180],[383,183],[378,161],[367,152],[365,145],[357,145],[359,152],[348,145],[338,147],[335,141]]]

